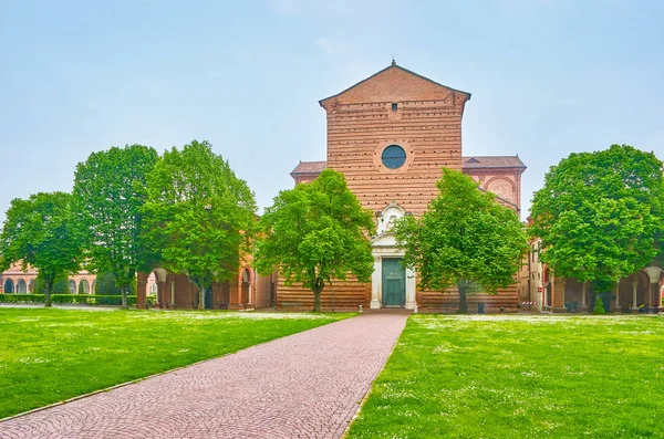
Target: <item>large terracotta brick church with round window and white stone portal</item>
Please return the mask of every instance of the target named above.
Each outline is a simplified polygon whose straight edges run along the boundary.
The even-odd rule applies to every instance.
[[[498,202],[521,205],[521,174],[517,156],[464,156],[461,123],[470,93],[452,88],[397,65],[321,100],[326,113],[325,161],[301,161],[291,173],[295,185],[313,180],[323,169],[343,173],[362,206],[375,215],[372,238],[374,272],[370,283],[332,282],[321,296],[322,309],[404,307],[452,312],[458,307],[454,290],[417,291],[417,273],[404,269],[404,255],[391,232],[402,216],[422,215],[437,196],[442,167],[463,170]],[[468,297],[468,309],[516,311],[518,285],[498,294]],[[276,282],[276,304],[310,309],[311,291]]]

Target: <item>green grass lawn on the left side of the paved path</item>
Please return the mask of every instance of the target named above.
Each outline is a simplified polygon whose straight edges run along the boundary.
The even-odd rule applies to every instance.
[[[351,315],[0,309],[0,419]]]

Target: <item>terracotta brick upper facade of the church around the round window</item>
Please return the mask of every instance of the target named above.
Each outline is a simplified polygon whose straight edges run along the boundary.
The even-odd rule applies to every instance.
[[[328,113],[328,167],[345,174],[349,188],[374,211],[396,201],[421,215],[436,195],[440,167],[461,169],[461,116],[470,98],[397,65],[320,102]],[[406,151],[390,169],[388,145]]]

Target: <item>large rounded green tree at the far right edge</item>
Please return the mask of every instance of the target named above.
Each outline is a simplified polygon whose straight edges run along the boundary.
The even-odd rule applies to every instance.
[[[556,275],[604,285],[595,295],[646,266],[664,224],[662,171],[654,154],[629,145],[571,154],[551,167],[531,208],[542,262]]]

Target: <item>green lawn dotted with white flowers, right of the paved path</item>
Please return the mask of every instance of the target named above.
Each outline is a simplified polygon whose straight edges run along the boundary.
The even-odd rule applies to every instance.
[[[664,318],[414,315],[350,438],[662,438]]]

